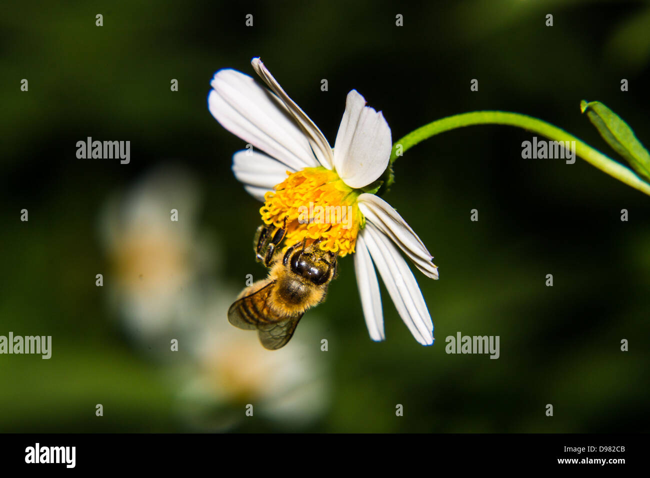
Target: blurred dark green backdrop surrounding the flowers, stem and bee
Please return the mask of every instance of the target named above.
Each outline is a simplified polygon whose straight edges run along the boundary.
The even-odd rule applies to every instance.
[[[109,194],[162,163],[183,165],[205,191],[200,225],[226,252],[222,279],[263,274],[250,250],[259,205],[230,171],[243,142],[206,107],[219,68],[252,75],[250,59],[261,56],[332,143],[356,88],[383,111],[393,140],[443,116],[500,109],[547,120],[613,155],[580,114],[585,99],[603,101],[650,144],[645,2],[1,8],[0,334],[52,335],[55,350],[51,360],[0,356],[0,431],[188,429],[172,406],[172,365],[128,338],[106,287],[95,287],[107,267],[97,221]],[[395,26],[398,13],[404,27]],[[553,27],[545,27],[547,13]],[[19,90],[22,78],[29,92]],[[170,92],[172,78],[178,92]],[[469,90],[473,78],[478,92]],[[77,159],[75,143],[87,136],[131,140],[131,164]],[[398,159],[384,198],[439,265],[439,281],[416,271],[437,341],[418,345],[385,289],[387,340],[370,341],[352,258],[341,260],[318,307],[336,338],[326,356],[331,402],[307,431],[647,431],[650,198],[581,159],[521,159],[531,136],[505,126],[459,129]],[[29,222],[19,220],[23,207]],[[478,222],[469,220],[473,208]],[[629,222],[619,220],[623,208]],[[549,273],[554,287],[544,285]],[[499,360],[445,354],[445,337],[457,331],[499,335]],[[629,352],[619,349],[623,338]],[[110,414],[96,418],[96,403]],[[264,419],[235,428],[274,429]]]

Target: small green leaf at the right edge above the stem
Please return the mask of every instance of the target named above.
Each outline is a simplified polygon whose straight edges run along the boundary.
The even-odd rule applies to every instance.
[[[636,139],[632,128],[600,101],[588,103],[582,100],[580,111],[587,113],[589,120],[607,144],[624,157],[645,181],[650,181],[650,153]]]

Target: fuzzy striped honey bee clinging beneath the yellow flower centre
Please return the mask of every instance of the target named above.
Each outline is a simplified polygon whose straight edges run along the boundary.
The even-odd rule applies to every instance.
[[[254,248],[257,261],[270,269],[268,277],[246,287],[228,310],[228,321],[244,330],[257,330],[268,350],[281,349],[293,336],[305,311],[325,299],[336,276],[337,254],[321,250],[321,239],[296,243],[280,258],[278,246],[285,237],[281,228],[259,226]]]

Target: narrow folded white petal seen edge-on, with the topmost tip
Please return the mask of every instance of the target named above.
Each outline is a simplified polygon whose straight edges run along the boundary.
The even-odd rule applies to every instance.
[[[305,114],[302,109],[296,103],[289,98],[289,95],[282,89],[278,81],[273,77],[271,72],[268,71],[264,63],[259,58],[253,58],[251,60],[253,69],[257,74],[266,82],[271,90],[278,95],[279,99],[287,107],[287,110],[294,119],[302,126],[305,134],[309,139],[309,144],[313,148],[313,152],[318,158],[318,162],[325,166],[328,169],[332,168],[333,165],[333,154],[331,152],[331,146],[328,140],[325,138],[325,135],[318,129],[314,122]]]

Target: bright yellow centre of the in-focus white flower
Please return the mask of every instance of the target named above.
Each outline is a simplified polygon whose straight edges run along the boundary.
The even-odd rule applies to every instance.
[[[277,227],[287,218],[285,249],[305,237],[322,237],[322,250],[338,252],[339,257],[354,252],[365,221],[357,206],[360,192],[347,186],[338,174],[322,166],[305,168],[289,174],[274,189],[274,193],[265,194],[259,212],[265,224]]]

